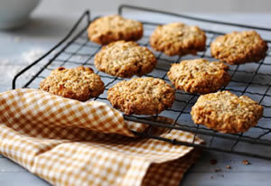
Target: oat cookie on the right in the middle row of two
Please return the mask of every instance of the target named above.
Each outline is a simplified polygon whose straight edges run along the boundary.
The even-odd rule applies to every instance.
[[[220,61],[182,60],[172,65],[167,76],[176,89],[192,94],[208,94],[228,85],[228,70],[229,66]]]

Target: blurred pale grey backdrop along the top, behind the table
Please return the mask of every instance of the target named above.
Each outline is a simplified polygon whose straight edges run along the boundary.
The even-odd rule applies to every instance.
[[[74,3],[76,2],[76,3]],[[271,11],[270,0],[44,0],[40,10],[50,8],[51,14],[60,10],[83,11],[93,14],[116,12],[118,5],[140,5],[175,13],[266,13]],[[70,12],[69,14],[73,14]]]

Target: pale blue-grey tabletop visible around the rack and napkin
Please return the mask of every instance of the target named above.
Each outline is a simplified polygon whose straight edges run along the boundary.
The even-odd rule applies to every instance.
[[[38,9],[33,19],[22,30],[0,32],[0,91],[11,88],[14,73],[22,69],[29,61],[23,59],[23,53],[40,49],[48,51],[63,35],[70,30],[81,11],[71,14],[50,14],[50,10]],[[204,17],[231,21],[235,23],[252,23],[271,28],[271,14],[204,14]],[[217,164],[210,164],[216,159]],[[242,164],[248,159],[250,165]],[[231,169],[226,169],[230,165]],[[215,172],[221,169],[221,172]],[[186,173],[181,185],[270,185],[271,161],[238,156],[229,153],[202,153],[201,160]],[[24,168],[0,155],[0,185],[49,185],[46,181],[27,172]]]

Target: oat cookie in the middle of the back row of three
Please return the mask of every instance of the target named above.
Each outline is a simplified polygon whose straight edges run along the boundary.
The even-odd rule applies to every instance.
[[[204,51],[206,36],[198,26],[184,23],[159,25],[150,37],[150,44],[156,51],[163,51],[169,56],[197,54]]]

